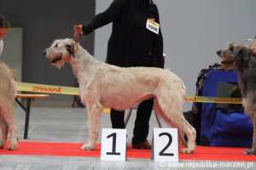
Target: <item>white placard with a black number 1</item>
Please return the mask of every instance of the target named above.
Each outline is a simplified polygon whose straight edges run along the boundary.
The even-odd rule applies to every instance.
[[[102,128],[103,161],[125,161],[126,159],[126,129]]]

